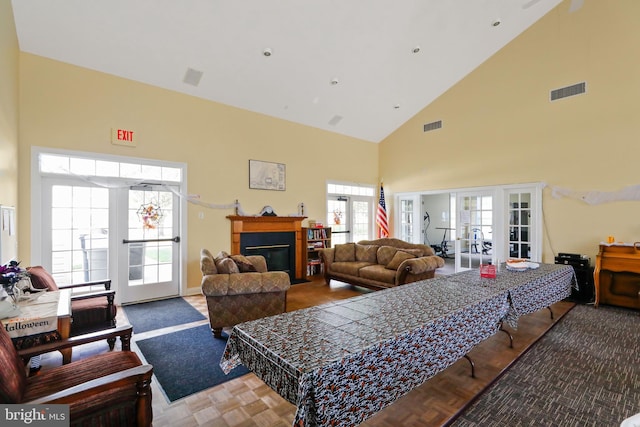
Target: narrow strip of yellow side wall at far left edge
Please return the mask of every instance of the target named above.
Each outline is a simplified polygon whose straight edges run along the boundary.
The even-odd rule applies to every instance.
[[[18,204],[18,58],[11,1],[0,0],[0,205],[8,206]]]

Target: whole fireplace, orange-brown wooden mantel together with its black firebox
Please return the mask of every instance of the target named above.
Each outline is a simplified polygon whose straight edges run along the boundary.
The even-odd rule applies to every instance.
[[[286,271],[293,282],[304,279],[302,220],[299,216],[230,215],[231,253],[263,255],[267,268]]]

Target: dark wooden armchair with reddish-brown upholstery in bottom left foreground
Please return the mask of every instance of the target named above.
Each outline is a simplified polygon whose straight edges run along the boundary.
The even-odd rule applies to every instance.
[[[69,405],[70,425],[150,426],[153,367],[131,351],[110,351],[28,377],[24,359],[76,344],[120,335],[131,337],[131,326],[120,327],[18,352],[0,327],[0,403]],[[102,334],[102,336],[100,336]]]

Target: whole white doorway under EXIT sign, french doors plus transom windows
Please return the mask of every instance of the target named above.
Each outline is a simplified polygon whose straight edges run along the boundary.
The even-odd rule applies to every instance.
[[[119,304],[180,295],[183,165],[77,152],[33,157],[33,265],[59,284],[111,279]]]

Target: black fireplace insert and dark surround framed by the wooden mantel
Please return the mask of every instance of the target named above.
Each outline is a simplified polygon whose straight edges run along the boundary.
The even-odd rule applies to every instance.
[[[264,232],[240,234],[242,255],[262,255],[269,271],[286,271],[295,280],[296,234],[294,232]]]

